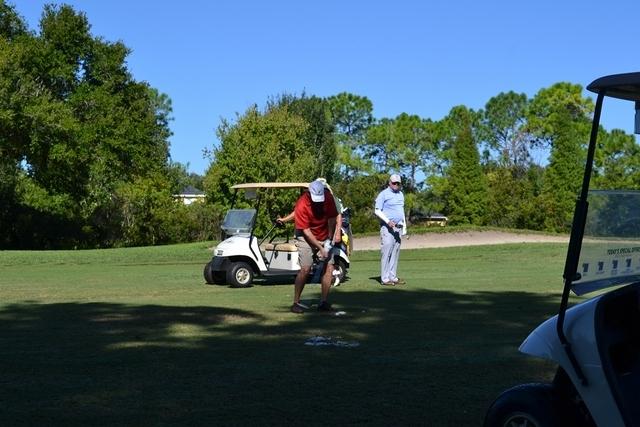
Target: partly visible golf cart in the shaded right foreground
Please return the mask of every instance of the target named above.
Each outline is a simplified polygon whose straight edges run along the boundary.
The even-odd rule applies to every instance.
[[[589,190],[604,98],[635,103],[640,133],[640,73],[602,77],[587,89],[598,97],[560,310],[520,346],[558,370],[551,384],[503,392],[485,426],[640,426],[640,192]],[[570,291],[601,292],[567,309]]]

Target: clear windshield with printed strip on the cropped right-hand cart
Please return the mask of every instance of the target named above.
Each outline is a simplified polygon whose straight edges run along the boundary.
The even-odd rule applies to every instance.
[[[590,191],[588,200],[577,295],[640,280],[640,191]]]

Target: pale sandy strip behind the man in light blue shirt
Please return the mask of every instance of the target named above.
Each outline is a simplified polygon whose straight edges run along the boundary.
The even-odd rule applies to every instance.
[[[520,234],[503,231],[468,231],[460,233],[426,233],[409,235],[402,240],[402,249],[444,248],[450,246],[497,245],[502,243],[560,242],[568,243],[569,236]],[[356,237],[356,251],[380,249],[380,237]]]

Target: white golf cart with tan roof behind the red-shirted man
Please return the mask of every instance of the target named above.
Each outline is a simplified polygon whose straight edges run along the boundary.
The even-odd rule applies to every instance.
[[[204,267],[204,279],[208,284],[230,285],[241,288],[251,286],[254,278],[282,278],[291,280],[298,274],[300,263],[298,249],[289,236],[284,238],[282,226],[273,222],[271,229],[261,238],[254,232],[258,224],[262,196],[268,191],[305,190],[308,183],[264,182],[238,184],[231,187],[244,192],[253,200],[250,209],[230,209],[222,223],[224,240],[213,250],[213,258]],[[272,220],[273,221],[273,220]],[[340,226],[337,224],[336,226]],[[336,277],[334,285],[343,281],[349,268],[347,248],[340,244],[331,250],[334,257]],[[312,281],[324,267],[316,260],[311,269]]]

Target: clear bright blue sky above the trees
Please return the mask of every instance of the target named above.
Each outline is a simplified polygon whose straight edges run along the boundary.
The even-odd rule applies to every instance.
[[[33,30],[47,3],[59,2],[14,1]],[[136,80],[169,95],[171,157],[199,174],[221,118],[282,93],[346,91],[369,98],[376,118],[440,120],[500,92],[532,97],[560,81],[586,87],[640,71],[637,0],[65,3],[86,13],[94,36],[132,50]],[[631,133],[633,106],[608,105],[603,125]]]

